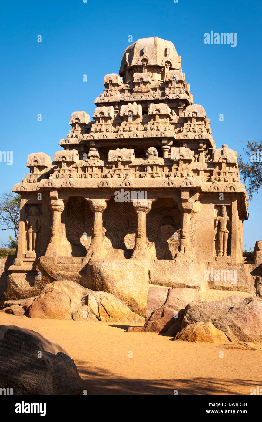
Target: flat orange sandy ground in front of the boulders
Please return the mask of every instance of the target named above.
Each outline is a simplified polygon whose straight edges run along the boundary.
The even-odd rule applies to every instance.
[[[30,319],[3,312],[0,325],[29,328],[64,347],[78,365],[88,394],[173,395],[177,390],[238,395],[262,387],[262,350],[127,333],[125,325],[107,322]]]

